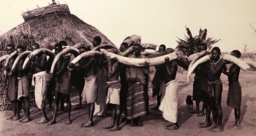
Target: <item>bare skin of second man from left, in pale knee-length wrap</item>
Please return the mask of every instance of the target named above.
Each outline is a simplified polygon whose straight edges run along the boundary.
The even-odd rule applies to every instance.
[[[17,49],[18,55],[20,55],[22,52],[24,52],[23,49],[20,49],[20,48]],[[12,75],[12,73],[17,71],[18,77],[28,76],[29,68],[28,67],[26,67],[24,69],[22,68],[24,60],[25,59],[20,60],[20,62],[18,63],[18,68],[16,70],[10,71],[10,75]],[[29,84],[27,84],[27,85],[29,85]],[[29,90],[27,90],[27,91],[29,91]],[[29,97],[20,97],[20,101],[21,101],[21,104],[23,105],[23,111],[25,113],[25,117],[23,119],[21,119],[20,122],[22,122],[22,123],[29,122],[29,121],[31,121],[30,114],[29,114]],[[18,103],[20,103],[20,101],[18,101]],[[18,105],[20,105],[20,104],[18,104]],[[20,111],[17,111],[17,112],[20,112]],[[16,113],[16,115],[17,114],[19,115],[20,113]]]

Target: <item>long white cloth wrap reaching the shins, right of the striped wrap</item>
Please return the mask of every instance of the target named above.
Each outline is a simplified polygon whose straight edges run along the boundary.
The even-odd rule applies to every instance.
[[[178,119],[178,85],[176,80],[169,81],[165,84],[165,96],[159,106],[165,120],[177,123]]]

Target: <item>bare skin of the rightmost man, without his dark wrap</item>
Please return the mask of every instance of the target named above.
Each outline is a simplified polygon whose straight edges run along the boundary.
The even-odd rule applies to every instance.
[[[231,52],[231,55],[233,55],[235,57],[238,57],[238,55],[236,55],[233,52]],[[227,75],[228,82],[230,84],[232,84],[233,82],[238,81],[239,73],[240,73],[240,68],[238,67],[238,65],[232,64],[230,66],[229,71],[223,71],[223,73],[225,75]],[[240,108],[234,108],[234,111],[235,111],[235,119],[236,119],[236,121],[235,121],[235,124],[233,124],[233,125],[231,125],[229,127],[229,129],[241,129],[241,125],[240,125],[240,122],[239,122],[240,115],[241,115]]]

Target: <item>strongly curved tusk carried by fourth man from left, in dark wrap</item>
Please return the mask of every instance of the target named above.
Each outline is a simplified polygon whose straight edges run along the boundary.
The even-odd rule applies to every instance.
[[[66,53],[71,53],[72,55],[77,57],[79,55],[79,50],[76,49],[75,47],[67,47],[65,49],[62,49],[61,52],[59,52],[58,55],[56,55],[56,57],[54,57],[53,63],[50,67],[50,73],[54,72],[56,63],[59,61],[61,56],[66,54]]]

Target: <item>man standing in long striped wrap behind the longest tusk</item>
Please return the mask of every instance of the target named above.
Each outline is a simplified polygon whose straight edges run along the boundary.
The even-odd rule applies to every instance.
[[[133,45],[134,55],[130,55],[132,58],[144,58],[145,56],[140,54],[142,47],[140,44]],[[127,119],[131,119],[132,127],[143,126],[140,117],[146,115],[147,105],[146,100],[148,92],[146,91],[146,83],[148,79],[148,67],[138,68],[127,66],[126,76],[128,81],[127,92]]]

